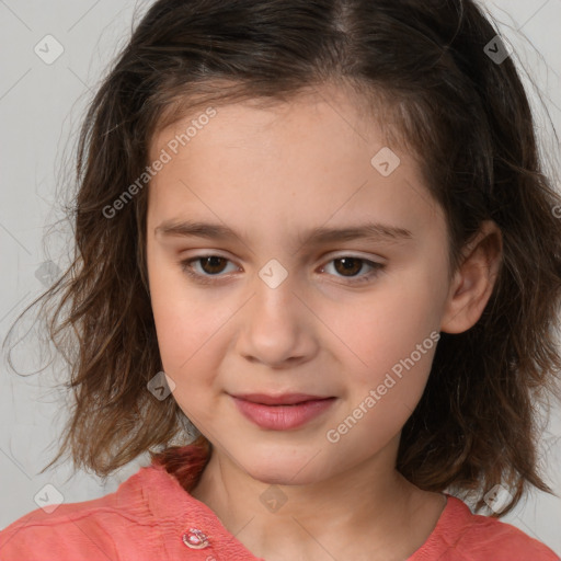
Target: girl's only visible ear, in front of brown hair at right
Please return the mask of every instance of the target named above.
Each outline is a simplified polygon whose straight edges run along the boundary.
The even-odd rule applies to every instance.
[[[494,221],[485,220],[462,250],[450,284],[440,331],[462,333],[478,322],[493,293],[502,255],[501,230]]]

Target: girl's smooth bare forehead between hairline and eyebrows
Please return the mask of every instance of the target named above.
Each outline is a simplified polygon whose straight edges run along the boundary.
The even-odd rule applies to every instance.
[[[390,148],[380,115],[365,118],[365,104],[345,91],[208,108],[152,139],[151,161],[169,156],[149,188],[149,215],[160,220],[196,211],[273,229],[373,213],[411,224],[437,211],[414,154]]]

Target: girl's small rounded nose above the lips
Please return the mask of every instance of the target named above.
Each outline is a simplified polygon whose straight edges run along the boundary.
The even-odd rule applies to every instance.
[[[319,346],[318,319],[306,301],[305,290],[290,275],[276,287],[263,278],[255,278],[254,294],[240,316],[239,355],[270,368],[310,360]]]

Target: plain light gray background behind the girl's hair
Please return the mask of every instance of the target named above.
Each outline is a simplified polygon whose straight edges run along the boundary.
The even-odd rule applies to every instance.
[[[55,230],[48,253],[45,234],[47,227],[61,217],[56,204],[71,180],[78,125],[104,69],[126,43],[134,18],[138,19],[150,3],[0,0],[1,340],[16,314],[45,288],[46,279],[56,276],[68,263],[65,240],[68,243],[70,234],[62,232],[57,237]],[[561,131],[561,0],[483,3],[513,46],[515,60],[524,65],[538,84],[547,112]],[[48,34],[61,47],[54,39],[44,39]],[[43,48],[43,58],[35,47]],[[54,57],[57,48],[64,48],[64,53],[46,64],[44,59]],[[543,110],[536,105],[536,111],[540,129],[550,135]],[[554,138],[545,138],[543,149],[558,154]],[[53,264],[46,266],[46,262]],[[24,325],[33,328],[31,321]],[[45,365],[37,345],[31,342],[33,334],[32,330],[14,352],[20,371],[32,373]],[[105,482],[83,472],[70,477],[69,463],[38,473],[54,456],[66,415],[64,392],[54,389],[62,374],[61,364],[55,363],[38,375],[18,376],[8,369],[2,356],[0,528],[37,508],[39,503],[34,497],[45,492],[50,496],[58,496],[59,492],[66,503],[94,499],[115,491],[140,465],[147,463],[146,456],[139,458]],[[560,439],[561,414],[557,405],[543,436],[542,462],[558,495]],[[56,491],[45,490],[46,484],[54,485]],[[561,554],[561,499],[533,492],[503,519]]]

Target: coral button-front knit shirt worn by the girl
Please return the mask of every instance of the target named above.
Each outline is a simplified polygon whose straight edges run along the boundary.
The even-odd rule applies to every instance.
[[[48,510],[45,507],[45,510]],[[1,561],[257,561],[206,504],[161,466],[140,468],[111,494],[33,511],[0,531]],[[559,561],[495,518],[447,504],[409,561]]]

